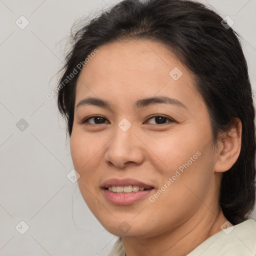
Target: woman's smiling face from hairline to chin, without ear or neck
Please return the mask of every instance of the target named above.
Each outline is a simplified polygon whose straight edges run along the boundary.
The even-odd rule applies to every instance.
[[[208,111],[191,74],[158,42],[97,49],[77,80],[70,138],[86,204],[119,236],[199,221],[217,201],[219,180]]]

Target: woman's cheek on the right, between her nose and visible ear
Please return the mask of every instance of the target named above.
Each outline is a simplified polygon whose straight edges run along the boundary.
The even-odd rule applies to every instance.
[[[172,205],[186,201],[192,206],[193,203],[190,202],[198,201],[194,194],[198,197],[205,195],[213,176],[214,166],[213,150],[210,144],[205,146],[205,141],[209,140],[205,138],[210,138],[210,132],[206,134],[206,131],[189,129],[186,132],[165,136],[165,139],[151,141],[150,147],[157,156],[156,161],[151,161],[153,169],[159,174],[157,179],[160,182],[157,189],[164,191],[159,191],[159,201],[170,202]],[[205,136],[202,136],[203,132]]]

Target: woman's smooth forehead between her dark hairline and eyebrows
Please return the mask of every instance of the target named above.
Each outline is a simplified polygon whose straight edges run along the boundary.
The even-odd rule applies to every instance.
[[[111,97],[115,97],[115,100],[118,97],[121,101],[124,99],[121,95],[142,98],[158,93],[172,94],[181,99],[197,93],[190,72],[160,42],[122,40],[101,45],[97,49],[98,53],[79,74],[76,102],[85,96],[108,96],[110,100]],[[173,79],[172,70],[180,76],[178,79],[175,76]]]

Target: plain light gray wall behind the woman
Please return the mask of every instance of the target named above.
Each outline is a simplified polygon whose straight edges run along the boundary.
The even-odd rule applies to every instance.
[[[66,177],[73,165],[65,123],[55,99],[46,98],[56,86],[73,22],[114,2],[0,0],[1,256],[102,256],[116,240]],[[234,20],[256,92],[256,0],[202,2]],[[15,24],[21,15],[29,21],[24,29]],[[21,118],[28,123],[23,131],[16,127]],[[15,229],[21,220],[29,226],[24,234]]]

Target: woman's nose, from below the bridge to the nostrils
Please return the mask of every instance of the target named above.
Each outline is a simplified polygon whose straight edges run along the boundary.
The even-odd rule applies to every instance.
[[[124,131],[116,127],[115,134],[107,144],[104,160],[108,165],[124,169],[128,165],[138,165],[143,161],[143,143],[136,130],[131,127]]]

